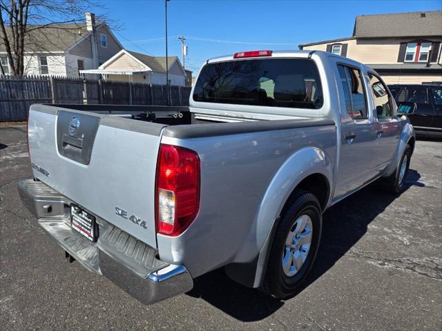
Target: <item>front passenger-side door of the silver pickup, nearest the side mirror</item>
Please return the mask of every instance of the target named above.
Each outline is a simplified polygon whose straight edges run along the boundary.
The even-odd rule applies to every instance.
[[[387,86],[375,72],[368,72],[370,81],[370,94],[372,102],[369,102],[375,116],[376,130],[376,154],[374,165],[378,172],[382,172],[390,165],[396,153],[399,139],[399,121],[394,108],[393,97]]]

